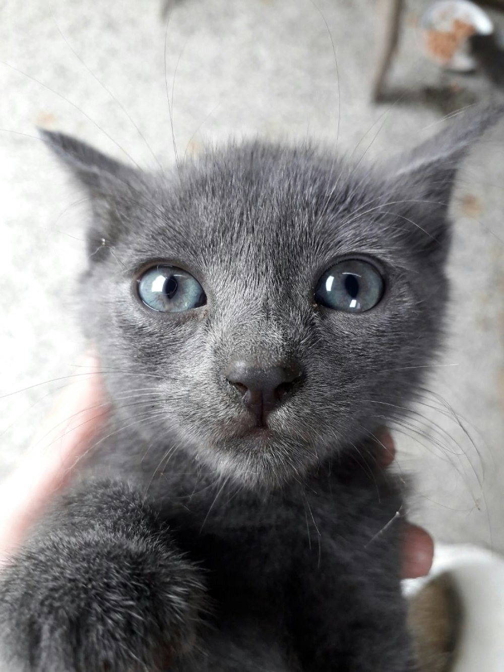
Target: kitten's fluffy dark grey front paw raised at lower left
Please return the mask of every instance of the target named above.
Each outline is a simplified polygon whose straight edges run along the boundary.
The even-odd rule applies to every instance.
[[[200,571],[142,497],[88,485],[0,573],[0,669],[164,672],[203,606]]]

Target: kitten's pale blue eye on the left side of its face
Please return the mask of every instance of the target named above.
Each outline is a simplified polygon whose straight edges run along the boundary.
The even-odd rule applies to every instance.
[[[198,280],[175,266],[153,266],[136,283],[144,304],[159,312],[183,312],[206,304]]]

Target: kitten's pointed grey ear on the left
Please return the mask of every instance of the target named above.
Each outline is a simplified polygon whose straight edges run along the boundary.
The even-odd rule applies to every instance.
[[[89,196],[92,220],[87,242],[90,254],[103,245],[103,240],[114,245],[128,221],[128,212],[142,200],[145,192],[140,171],[71,136],[42,129],[39,133]]]

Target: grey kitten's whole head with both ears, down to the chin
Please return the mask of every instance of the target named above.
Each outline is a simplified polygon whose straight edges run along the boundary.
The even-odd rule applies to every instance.
[[[249,142],[152,175],[44,133],[91,198],[85,329],[142,444],[275,485],[404,413],[442,327],[457,164],[500,114],[378,167]]]

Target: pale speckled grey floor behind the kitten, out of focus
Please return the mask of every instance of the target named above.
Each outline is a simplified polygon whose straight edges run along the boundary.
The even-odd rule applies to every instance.
[[[413,146],[464,106],[502,95],[501,70],[489,67],[499,54],[477,54],[470,73],[439,67],[443,44],[429,43],[434,60],[427,58],[421,23],[430,4],[3,0],[0,478],[28,447],[66,376],[78,371],[84,347],[73,288],[85,263],[85,203],[36,126],[75,134],[142,167],[155,168],[155,157],[169,165],[168,94],[179,155],[259,134],[312,136],[372,159]],[[485,12],[497,31],[504,28],[504,12]],[[398,48],[382,68],[394,25]],[[437,540],[501,551],[503,140],[504,123],[464,162],[452,205],[446,349],[411,427],[395,433],[398,468],[411,476],[412,517]]]

